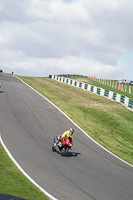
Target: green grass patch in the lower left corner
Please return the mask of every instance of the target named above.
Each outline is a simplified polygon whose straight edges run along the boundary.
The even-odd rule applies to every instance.
[[[30,200],[48,200],[10,160],[0,144],[0,193]]]

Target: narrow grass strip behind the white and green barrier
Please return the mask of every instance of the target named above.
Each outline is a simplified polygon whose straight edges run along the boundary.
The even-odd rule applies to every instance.
[[[124,92],[124,91],[121,91],[121,90],[118,90],[118,89],[115,89],[113,87],[110,87],[110,86],[107,86],[103,83],[100,83],[98,81],[94,81],[92,78],[89,78],[89,77],[69,77],[70,79],[74,79],[74,80],[77,80],[79,82],[83,82],[83,83],[88,83],[90,85],[94,85],[96,87],[100,87],[100,88],[103,88],[105,90],[110,90],[112,92],[115,92],[115,93],[118,93],[118,94],[122,94],[124,96],[127,96],[128,98],[130,99],[133,99],[133,85],[131,85],[131,88],[132,88],[132,94],[129,94],[128,92]],[[116,83],[117,81],[115,81]],[[124,85],[125,86],[125,85]],[[127,88],[129,87],[129,85],[127,85]]]

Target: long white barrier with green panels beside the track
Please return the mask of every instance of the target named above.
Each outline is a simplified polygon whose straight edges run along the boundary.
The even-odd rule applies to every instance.
[[[67,83],[67,84],[70,84],[71,86],[79,87],[81,89],[93,92],[97,95],[104,96],[108,99],[120,102],[133,111],[133,100],[129,99],[128,97],[126,97],[122,94],[118,94],[118,93],[115,93],[115,92],[112,92],[109,90],[104,90],[103,88],[89,85],[87,83],[81,83],[81,82],[78,82],[78,81],[75,81],[75,80],[72,80],[69,78],[64,78],[64,77],[55,76],[55,75],[52,75],[51,78],[54,80],[60,81],[62,83]]]

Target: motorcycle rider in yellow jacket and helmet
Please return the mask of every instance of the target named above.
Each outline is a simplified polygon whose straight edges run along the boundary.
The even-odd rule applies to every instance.
[[[69,140],[72,141],[72,139],[73,139],[73,133],[74,133],[74,129],[70,128],[68,131],[65,131],[62,135],[59,135],[57,137],[57,139],[58,139],[58,146],[62,147],[61,138],[63,138],[63,139],[69,138]]]

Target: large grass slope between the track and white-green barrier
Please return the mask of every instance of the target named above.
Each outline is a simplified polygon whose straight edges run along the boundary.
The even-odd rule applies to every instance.
[[[133,164],[133,112],[120,103],[49,78],[21,77],[105,148]]]

